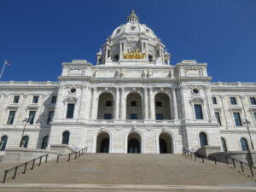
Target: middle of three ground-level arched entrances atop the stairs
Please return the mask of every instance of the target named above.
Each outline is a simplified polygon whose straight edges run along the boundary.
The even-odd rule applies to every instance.
[[[141,137],[137,133],[131,133],[128,136],[127,152],[131,154],[141,153]]]

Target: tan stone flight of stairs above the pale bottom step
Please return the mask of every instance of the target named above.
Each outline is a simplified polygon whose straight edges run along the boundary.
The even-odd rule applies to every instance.
[[[250,181],[225,166],[201,164],[182,154],[84,154],[43,164],[10,182],[218,186]]]

